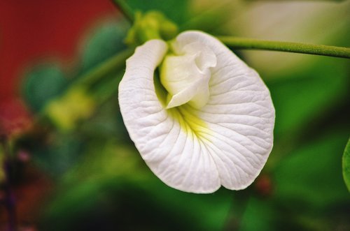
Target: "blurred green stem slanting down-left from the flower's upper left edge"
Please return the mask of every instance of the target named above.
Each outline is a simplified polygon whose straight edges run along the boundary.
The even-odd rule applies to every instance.
[[[76,80],[74,84],[87,84],[90,85],[93,82],[96,82],[101,77],[111,73],[113,70],[118,70],[118,68],[122,68],[125,65],[125,60],[129,58],[134,52],[134,48],[129,48],[116,54],[116,56],[107,59],[106,61],[99,64],[96,68],[92,69],[85,75],[81,76]]]

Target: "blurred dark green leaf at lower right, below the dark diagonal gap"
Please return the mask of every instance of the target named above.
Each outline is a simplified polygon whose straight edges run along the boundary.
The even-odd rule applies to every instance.
[[[276,200],[319,210],[346,203],[349,193],[339,169],[346,136],[344,131],[323,135],[281,160],[273,173]]]

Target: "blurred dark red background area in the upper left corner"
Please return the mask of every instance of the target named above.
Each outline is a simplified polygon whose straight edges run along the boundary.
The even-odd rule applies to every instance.
[[[74,59],[81,34],[100,17],[116,14],[116,7],[109,0],[1,0],[0,122],[3,126],[13,126],[9,121],[27,117],[19,100],[20,78],[27,66],[45,57],[64,62]]]

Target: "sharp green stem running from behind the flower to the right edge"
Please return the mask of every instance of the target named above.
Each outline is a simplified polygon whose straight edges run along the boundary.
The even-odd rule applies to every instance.
[[[228,47],[235,49],[275,50],[279,52],[317,54],[350,59],[350,48],[348,47],[237,38],[232,36],[218,36],[217,38],[225,43],[225,45],[228,45]]]

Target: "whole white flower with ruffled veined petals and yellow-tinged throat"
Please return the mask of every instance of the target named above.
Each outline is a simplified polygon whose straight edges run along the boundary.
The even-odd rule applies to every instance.
[[[167,96],[155,76],[158,66]],[[144,161],[181,191],[246,188],[272,149],[269,90],[207,33],[186,31],[172,43],[149,40],[137,47],[127,60],[119,103]]]

